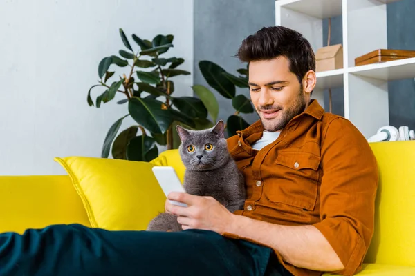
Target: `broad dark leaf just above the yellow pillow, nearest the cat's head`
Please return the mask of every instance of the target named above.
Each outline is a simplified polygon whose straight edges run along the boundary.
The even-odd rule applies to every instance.
[[[158,156],[156,140],[147,135],[134,137],[127,146],[127,159],[149,162]]]

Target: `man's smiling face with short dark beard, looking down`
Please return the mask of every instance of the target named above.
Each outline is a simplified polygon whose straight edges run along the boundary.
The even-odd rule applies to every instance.
[[[310,96],[290,72],[286,57],[250,62],[249,86],[252,103],[270,132],[282,130],[308,106]]]

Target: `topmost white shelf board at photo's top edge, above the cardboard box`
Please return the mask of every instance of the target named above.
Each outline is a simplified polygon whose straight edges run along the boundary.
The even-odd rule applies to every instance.
[[[342,0],[277,0],[275,6],[288,8],[318,19],[342,14]]]

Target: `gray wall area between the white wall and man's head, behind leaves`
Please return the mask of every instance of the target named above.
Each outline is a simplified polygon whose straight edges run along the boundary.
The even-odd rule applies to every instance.
[[[212,61],[232,74],[246,65],[234,57],[241,42],[249,34],[264,26],[275,25],[275,0],[209,0],[194,1],[194,84],[207,87],[199,70],[199,61]],[[211,89],[219,101],[219,117],[226,121],[234,108],[230,99],[225,99]],[[249,98],[248,88],[237,88],[237,95]],[[248,123],[259,117],[257,113],[242,115]]]

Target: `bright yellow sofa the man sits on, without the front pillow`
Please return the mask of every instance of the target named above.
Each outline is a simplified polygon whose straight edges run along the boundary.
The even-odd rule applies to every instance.
[[[376,230],[358,275],[415,275],[415,141],[373,143],[380,171]],[[183,170],[177,152],[153,164]],[[0,233],[78,223],[91,226],[68,175],[0,177]]]

